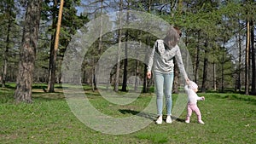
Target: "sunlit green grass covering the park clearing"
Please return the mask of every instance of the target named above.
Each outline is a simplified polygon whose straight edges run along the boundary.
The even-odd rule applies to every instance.
[[[44,93],[44,85],[33,88],[32,104],[15,104],[14,89],[0,89],[0,143],[254,143],[256,141],[256,96],[238,94],[199,94],[202,119],[195,114],[185,124],[184,111],[172,124],[149,124],[128,135],[108,135],[87,127],[73,115],[61,89]],[[119,106],[86,88],[91,104],[114,117],[129,117],[147,106],[152,95],[142,94],[137,101]],[[173,95],[175,102],[177,95]],[[123,111],[120,111],[123,110]]]

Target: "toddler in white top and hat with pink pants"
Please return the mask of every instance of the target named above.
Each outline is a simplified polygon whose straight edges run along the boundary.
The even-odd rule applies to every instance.
[[[201,112],[199,110],[199,108],[197,107],[197,101],[204,101],[205,97],[199,97],[198,95],[196,95],[196,92],[198,91],[198,86],[197,84],[195,84],[195,82],[190,81],[189,85],[185,85],[184,89],[188,95],[189,101],[188,101],[188,106],[187,106],[187,118],[185,120],[185,123],[190,122],[190,117],[192,112],[195,112],[197,115],[197,120],[198,123],[200,124],[205,124],[202,120],[201,120]]]

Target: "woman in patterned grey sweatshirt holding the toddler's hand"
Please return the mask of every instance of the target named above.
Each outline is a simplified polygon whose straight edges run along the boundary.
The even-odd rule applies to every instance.
[[[149,55],[148,59],[148,72],[147,77],[151,78],[151,71],[154,72],[154,85],[155,93],[157,96],[156,106],[157,106],[157,115],[156,124],[162,124],[162,111],[163,111],[163,96],[166,95],[166,110],[167,117],[166,123],[172,123],[172,84],[174,77],[174,63],[173,57],[177,61],[179,71],[183,74],[186,82],[189,82],[187,73],[185,72],[183,66],[182,55],[180,49],[177,46],[177,42],[180,38],[179,29],[176,27],[171,28],[166,33],[164,39],[158,39],[154,43],[154,49]]]

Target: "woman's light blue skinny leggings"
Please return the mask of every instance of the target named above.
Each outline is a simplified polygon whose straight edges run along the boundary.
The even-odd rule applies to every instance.
[[[156,94],[157,115],[163,115],[163,97],[166,95],[166,114],[172,115],[172,83],[173,72],[160,73],[154,72],[154,87]]]

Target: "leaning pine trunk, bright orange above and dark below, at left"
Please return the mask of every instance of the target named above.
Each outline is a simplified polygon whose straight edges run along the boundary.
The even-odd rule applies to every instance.
[[[59,47],[59,35],[61,31],[61,18],[62,18],[62,9],[63,9],[64,0],[61,0],[61,5],[59,9],[58,22],[55,32],[55,45],[54,49],[50,50],[50,60],[49,60],[49,82],[48,82],[48,92],[55,92],[55,69],[56,69],[56,59],[57,59],[57,50]]]

